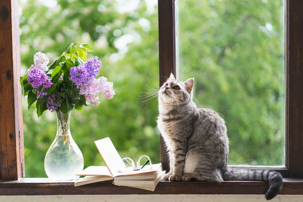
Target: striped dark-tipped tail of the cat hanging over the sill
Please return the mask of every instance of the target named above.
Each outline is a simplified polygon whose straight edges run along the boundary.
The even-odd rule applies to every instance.
[[[265,194],[267,200],[275,197],[282,189],[283,178],[273,170],[230,169],[223,173],[226,181],[267,181],[269,189]]]

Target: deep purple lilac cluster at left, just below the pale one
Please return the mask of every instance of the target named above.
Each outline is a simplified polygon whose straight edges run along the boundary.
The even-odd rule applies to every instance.
[[[46,74],[33,65],[27,71],[27,80],[34,88],[40,87],[47,79]]]

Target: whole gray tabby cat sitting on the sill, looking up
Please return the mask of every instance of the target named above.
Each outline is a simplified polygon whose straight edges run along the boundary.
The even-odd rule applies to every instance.
[[[159,90],[158,128],[170,157],[170,181],[268,181],[265,194],[272,199],[281,190],[280,173],[271,170],[230,169],[224,120],[211,109],[192,101],[193,78],[178,81],[171,74]]]

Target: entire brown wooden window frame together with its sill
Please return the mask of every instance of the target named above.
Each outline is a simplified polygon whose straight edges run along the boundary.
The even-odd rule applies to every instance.
[[[285,167],[281,194],[303,194],[303,2],[285,0]],[[176,75],[175,0],[158,0],[160,85]],[[73,182],[23,178],[24,147],[20,76],[18,0],[0,1],[0,195],[58,194],[264,194],[267,182],[162,181],[154,192],[98,182],[74,187]],[[161,139],[161,162],[168,158]],[[264,168],[264,167],[262,167]],[[266,167],[269,168],[269,167]],[[1,182],[2,181],[2,182]]]

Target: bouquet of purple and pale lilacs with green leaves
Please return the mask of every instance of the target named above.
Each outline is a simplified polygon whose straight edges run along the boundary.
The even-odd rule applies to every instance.
[[[34,55],[34,64],[20,77],[24,95],[28,95],[28,109],[36,102],[38,117],[45,110],[68,115],[74,108],[81,112],[83,106],[98,106],[99,93],[113,98],[113,83],[103,76],[96,78],[102,62],[97,57],[86,61],[87,52],[92,52],[88,47],[86,43],[72,43],[49,66],[45,54]]]

